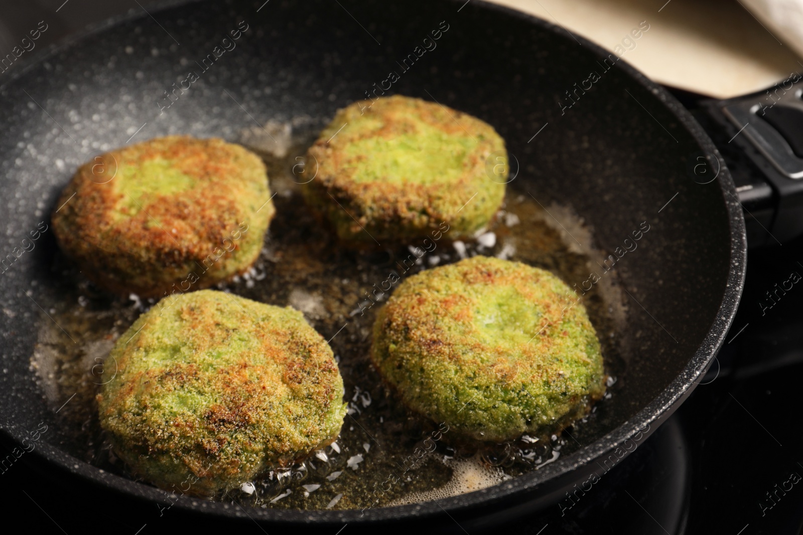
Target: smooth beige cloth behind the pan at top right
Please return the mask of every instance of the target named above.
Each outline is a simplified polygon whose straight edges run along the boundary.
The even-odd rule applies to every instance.
[[[797,0],[743,0],[745,6]],[[803,60],[771,22],[739,0],[491,0],[577,32],[610,51],[646,21],[623,60],[658,83],[728,98],[803,75]],[[666,2],[666,3],[665,3]],[[754,9],[751,6],[751,9]],[[772,33],[764,26],[772,27]],[[773,34],[777,35],[776,37]],[[801,52],[803,52],[803,42]],[[800,61],[800,63],[798,63]]]

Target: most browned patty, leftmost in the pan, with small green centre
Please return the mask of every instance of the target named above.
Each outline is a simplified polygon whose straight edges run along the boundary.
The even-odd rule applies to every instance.
[[[165,175],[151,176],[145,165]],[[152,296],[191,271],[198,289],[247,270],[275,212],[269,199],[259,157],[219,139],[169,136],[82,165],[52,220],[59,245],[88,278]]]

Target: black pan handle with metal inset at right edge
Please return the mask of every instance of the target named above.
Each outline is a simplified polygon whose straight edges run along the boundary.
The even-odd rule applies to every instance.
[[[777,246],[803,234],[803,81],[703,100],[692,110],[736,182],[748,247]]]

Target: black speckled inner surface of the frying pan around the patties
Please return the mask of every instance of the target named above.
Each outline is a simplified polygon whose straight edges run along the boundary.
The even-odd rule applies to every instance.
[[[47,444],[95,464],[108,461],[101,444],[84,440],[97,440],[88,410],[91,383],[102,382],[100,372],[108,371],[96,368],[95,359],[108,351],[104,336],[119,336],[141,309],[136,300],[113,300],[81,282],[56,251],[48,214],[59,208],[55,198],[75,168],[97,153],[186,133],[259,150],[277,180],[275,200],[283,215],[271,228],[260,259],[263,271],[230,290],[293,304],[324,336],[345,323],[332,345],[344,375],[361,367],[353,375],[361,380],[347,379],[355,412],[344,429],[352,432],[353,419],[392,416],[406,448],[414,448],[430,430],[392,407],[370,375],[365,351],[349,355],[351,343],[365,349],[366,318],[373,314],[352,315],[360,309],[356,297],[385,280],[389,265],[407,253],[333,248],[300,204],[300,169],[292,172],[338,107],[382,93],[466,111],[506,140],[517,173],[505,210],[520,224],[508,226],[500,218],[491,229],[497,243],[486,253],[503,253],[508,237],[514,257],[556,271],[570,286],[589,284],[593,275],[601,281],[590,283],[587,302],[618,381],[598,414],[577,426],[577,444],[555,441],[565,448],[561,456],[571,457],[618,428],[687,367],[723,300],[731,229],[719,182],[698,184],[687,176],[699,144],[656,95],[568,35],[502,10],[469,5],[458,11],[460,3],[451,2],[354,2],[347,11],[337,2],[312,3],[271,2],[259,12],[251,2],[170,8],[157,14],[161,26],[151,18],[122,22],[2,87],[0,226],[6,229],[3,254],[10,256],[0,278],[6,340],[0,414],[12,436],[19,439],[47,421]],[[591,72],[598,80],[589,87]],[[637,241],[634,233],[642,224],[650,231]],[[453,247],[448,253],[447,245],[438,247],[442,261],[456,259]],[[605,276],[609,255],[616,255],[617,265]],[[303,259],[303,269],[291,270],[282,258]],[[279,268],[287,270],[284,278],[257,280]],[[84,334],[94,338],[85,340]],[[43,357],[47,351],[51,355]],[[75,363],[78,379],[64,384],[84,381],[86,387],[75,399],[70,396],[77,388],[65,391],[57,384],[69,375],[66,362]],[[37,366],[45,368],[39,372],[47,380]],[[79,425],[86,428],[76,432]],[[332,466],[337,469],[327,475],[340,471],[357,480],[349,460],[367,466],[372,448],[381,448],[381,441],[360,438],[357,431],[344,441],[349,456],[332,456],[344,469]],[[540,452],[542,462],[552,449]],[[483,454],[490,464],[504,464],[499,450]],[[357,455],[363,460],[357,462]],[[423,486],[411,485],[410,492],[450,478],[441,468],[446,465],[436,461],[426,461],[429,468],[420,472],[427,476],[412,478]],[[490,483],[505,477],[495,474]],[[303,496],[298,484],[306,483],[300,479],[292,499],[273,505],[300,506],[294,501]],[[241,497],[246,496],[251,495]],[[309,493],[316,508],[334,499],[317,496]],[[400,497],[388,496],[385,505]]]

